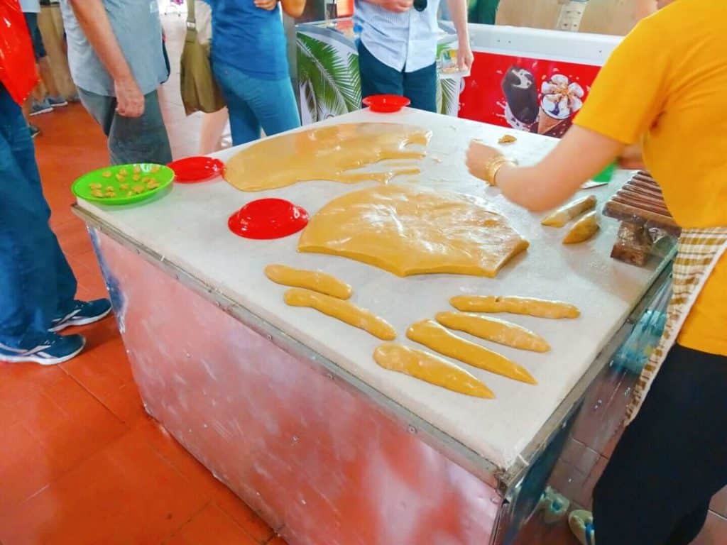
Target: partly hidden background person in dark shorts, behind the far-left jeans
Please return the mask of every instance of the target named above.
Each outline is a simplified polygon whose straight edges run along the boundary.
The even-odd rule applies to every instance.
[[[28,97],[28,100],[23,103],[23,115],[27,120],[31,116],[52,112],[53,108],[68,106],[68,102],[61,96],[55,84],[50,60],[43,44],[43,36],[38,27],[38,14],[41,12],[40,0],[20,0],[20,8],[23,9],[25,23],[28,25],[28,32],[33,42],[33,52],[36,56],[37,65],[36,70],[39,71],[41,81],[49,93],[47,97],[43,97],[39,88],[40,85],[36,86],[36,89],[33,90],[35,97]],[[35,125],[28,123],[28,127],[31,129],[31,136],[33,138],[40,134],[40,129]]]

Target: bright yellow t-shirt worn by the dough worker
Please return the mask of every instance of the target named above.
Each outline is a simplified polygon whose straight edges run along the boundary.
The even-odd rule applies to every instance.
[[[675,0],[642,20],[598,73],[575,123],[642,141],[680,226],[727,227],[727,1]],[[727,256],[678,342],[727,355]]]

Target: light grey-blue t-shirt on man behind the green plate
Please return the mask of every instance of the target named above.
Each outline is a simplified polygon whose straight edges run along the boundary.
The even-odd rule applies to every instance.
[[[103,0],[103,6],[139,89],[143,94],[155,91],[166,80],[157,0]],[[86,39],[68,0],[61,0],[60,7],[74,83],[84,91],[113,97],[111,75]]]

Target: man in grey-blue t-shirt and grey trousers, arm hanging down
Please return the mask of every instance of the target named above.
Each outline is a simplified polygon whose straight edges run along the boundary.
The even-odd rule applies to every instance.
[[[71,76],[112,164],[172,161],[158,86],[167,72],[157,0],[62,0]]]

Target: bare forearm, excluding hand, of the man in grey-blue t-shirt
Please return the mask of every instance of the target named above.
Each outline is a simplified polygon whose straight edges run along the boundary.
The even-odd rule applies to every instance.
[[[108,15],[101,0],[68,0],[73,13],[86,35],[86,39],[98,55],[114,81],[133,78],[132,70],[121,52],[113,33]]]

